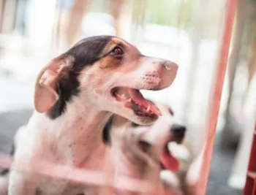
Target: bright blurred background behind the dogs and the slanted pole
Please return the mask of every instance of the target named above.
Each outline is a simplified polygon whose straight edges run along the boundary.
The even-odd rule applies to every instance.
[[[206,136],[223,0],[0,0],[0,152],[33,110],[34,80],[82,37],[116,35],[179,65],[170,88],[145,91],[188,126],[195,157]],[[241,194],[256,112],[256,1],[238,0],[207,194]]]

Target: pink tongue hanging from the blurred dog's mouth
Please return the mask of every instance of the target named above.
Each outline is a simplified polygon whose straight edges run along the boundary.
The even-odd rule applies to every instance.
[[[164,150],[164,152],[161,154],[160,161],[165,169],[172,172],[178,171],[178,160],[174,158],[168,150]]]

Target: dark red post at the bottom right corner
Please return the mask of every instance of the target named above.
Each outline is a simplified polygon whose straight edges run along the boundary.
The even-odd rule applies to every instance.
[[[256,195],[256,123],[249,157],[248,172],[244,186],[244,195]]]

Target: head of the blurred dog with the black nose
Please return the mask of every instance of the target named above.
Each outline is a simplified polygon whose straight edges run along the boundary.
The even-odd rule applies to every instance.
[[[172,156],[168,145],[170,142],[181,143],[187,128],[176,121],[170,107],[165,104],[157,104],[157,107],[162,117],[148,126],[140,126],[113,115],[103,131],[103,141],[107,144],[126,141],[129,146],[127,150],[135,148],[136,153],[151,158],[156,164],[161,164],[163,169],[177,171],[178,159]]]

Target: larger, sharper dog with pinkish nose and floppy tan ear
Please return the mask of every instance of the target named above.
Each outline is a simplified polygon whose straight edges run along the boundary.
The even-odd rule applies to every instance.
[[[102,129],[117,114],[140,125],[161,112],[140,89],[160,90],[173,83],[178,65],[143,56],[123,39],[82,39],[39,72],[35,111],[18,133],[9,195],[99,194],[97,186],[37,174],[37,162],[102,171],[107,152]],[[124,96],[125,95],[125,96]],[[26,172],[20,172],[20,162]]]

